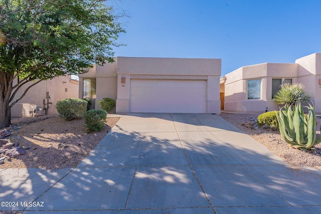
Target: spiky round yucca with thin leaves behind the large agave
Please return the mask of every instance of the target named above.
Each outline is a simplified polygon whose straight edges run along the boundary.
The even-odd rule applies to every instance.
[[[283,84],[281,89],[276,92],[273,100],[277,104],[291,106],[297,102],[307,102],[310,97],[305,93],[304,86],[301,83]]]

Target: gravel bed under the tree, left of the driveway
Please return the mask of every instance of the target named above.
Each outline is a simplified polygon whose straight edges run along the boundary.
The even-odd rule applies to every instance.
[[[66,121],[53,115],[13,119],[12,133],[8,138],[25,148],[26,154],[7,158],[0,168],[55,170],[76,167],[118,120],[119,117],[107,115],[106,127],[102,131],[87,133],[83,118]]]

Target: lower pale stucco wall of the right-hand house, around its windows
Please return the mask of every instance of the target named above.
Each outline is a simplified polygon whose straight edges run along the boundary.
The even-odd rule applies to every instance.
[[[227,75],[225,82],[225,111],[264,112],[266,108],[278,110],[272,100],[272,79],[291,78],[295,82],[297,64],[262,63],[244,66]],[[260,79],[260,99],[247,99],[247,80]]]

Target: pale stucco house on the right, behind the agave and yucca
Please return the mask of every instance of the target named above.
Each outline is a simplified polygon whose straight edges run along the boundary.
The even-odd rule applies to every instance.
[[[241,67],[221,78],[221,110],[265,112],[279,110],[272,99],[284,83],[302,83],[316,113],[321,113],[321,54],[311,54],[295,63],[263,63]]]

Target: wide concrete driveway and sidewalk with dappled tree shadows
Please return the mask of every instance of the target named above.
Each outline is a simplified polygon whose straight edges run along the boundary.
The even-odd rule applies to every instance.
[[[76,168],[0,169],[0,210],[320,213],[320,183],[217,115],[128,114]]]

